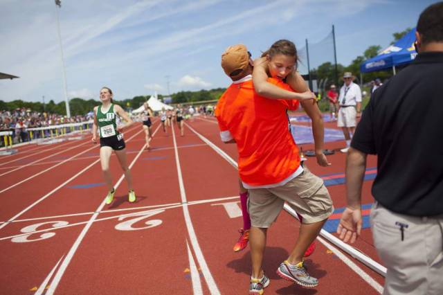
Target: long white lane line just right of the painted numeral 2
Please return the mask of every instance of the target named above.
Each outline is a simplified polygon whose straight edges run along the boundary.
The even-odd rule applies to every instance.
[[[206,264],[206,260],[201,252],[199,242],[197,240],[197,235],[194,231],[194,226],[192,226],[191,217],[188,211],[188,204],[186,200],[186,191],[185,186],[183,185],[183,177],[181,175],[181,166],[179,159],[179,150],[177,149],[177,141],[175,140],[175,132],[174,127],[172,127],[172,139],[174,140],[174,153],[175,153],[175,161],[177,163],[177,174],[179,175],[179,187],[180,187],[180,195],[181,202],[183,203],[183,215],[185,217],[186,228],[188,229],[189,238],[191,241],[192,249],[194,249],[195,256],[197,257],[197,262],[199,262],[201,271],[203,272],[203,276],[208,284],[210,294],[219,295],[219,289],[215,284],[215,280],[213,276],[210,274],[208,265]]]

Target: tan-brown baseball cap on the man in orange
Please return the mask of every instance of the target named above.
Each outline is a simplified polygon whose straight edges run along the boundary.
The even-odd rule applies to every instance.
[[[243,44],[229,46],[221,55],[221,67],[226,75],[234,78],[248,68],[250,57],[248,48]]]

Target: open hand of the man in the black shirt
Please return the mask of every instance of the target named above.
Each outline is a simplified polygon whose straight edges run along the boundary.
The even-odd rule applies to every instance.
[[[340,223],[338,224],[337,233],[343,242],[350,241],[351,244],[359,237],[361,233],[361,209],[352,209],[346,207],[343,215],[341,215]]]

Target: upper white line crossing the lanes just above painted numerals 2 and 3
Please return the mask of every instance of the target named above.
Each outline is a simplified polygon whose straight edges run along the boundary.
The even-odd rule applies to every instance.
[[[199,201],[188,202],[188,204],[189,205],[197,205],[197,204],[205,204],[205,203],[226,201],[226,200],[238,199],[238,198],[239,198],[239,196],[221,197],[221,198],[216,198],[216,199],[204,199],[204,200],[199,200]],[[100,211],[99,213],[114,213],[114,212],[120,212],[120,211],[136,211],[136,210],[149,209],[149,208],[162,209],[162,207],[175,206],[175,205],[180,205],[181,206],[181,203],[170,203],[170,204],[160,204],[160,205],[153,205],[153,206],[140,206],[140,207],[132,207],[132,208],[111,209],[111,210]],[[37,220],[52,220],[52,219],[62,218],[62,217],[75,217],[75,216],[82,216],[82,215],[92,215],[93,213],[95,213],[95,212],[84,212],[84,213],[72,213],[72,214],[46,216],[46,217],[35,217],[35,218],[28,218],[28,219],[25,219],[25,220],[12,220],[10,223],[30,222],[30,221],[37,221]],[[3,223],[6,223],[6,222],[0,222],[0,224],[3,224]]]

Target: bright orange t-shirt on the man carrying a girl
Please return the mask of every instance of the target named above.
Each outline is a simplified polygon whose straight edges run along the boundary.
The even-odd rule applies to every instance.
[[[275,78],[268,82],[293,91]],[[298,147],[289,130],[287,109],[298,100],[272,100],[258,96],[252,80],[231,84],[215,109],[221,133],[237,143],[240,179],[250,186],[278,184],[300,166]]]

